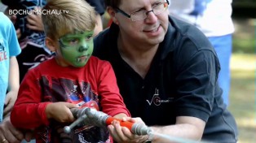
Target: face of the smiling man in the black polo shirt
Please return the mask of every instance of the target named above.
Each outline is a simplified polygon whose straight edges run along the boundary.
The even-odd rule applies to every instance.
[[[116,13],[116,18],[121,29],[121,37],[125,37],[127,42],[144,43],[157,45],[164,40],[168,28],[168,11],[163,10],[155,15],[152,8],[165,2],[164,0],[122,0],[118,7],[128,15],[138,11],[150,11],[144,20],[132,21],[120,12]],[[162,6],[163,7],[163,6]]]

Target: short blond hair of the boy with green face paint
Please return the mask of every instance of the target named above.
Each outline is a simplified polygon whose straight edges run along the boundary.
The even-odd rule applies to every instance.
[[[42,11],[46,37],[53,40],[68,32],[91,31],[95,28],[95,10],[85,0],[48,0]]]

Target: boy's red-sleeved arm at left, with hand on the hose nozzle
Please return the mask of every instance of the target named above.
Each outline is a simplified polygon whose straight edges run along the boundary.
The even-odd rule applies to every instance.
[[[71,115],[68,108],[77,107],[69,103],[42,102],[42,88],[37,73],[35,69],[29,70],[20,85],[18,98],[11,111],[11,123],[15,128],[38,128],[48,125],[49,119],[66,121],[68,114]],[[68,119],[72,120],[69,116]]]

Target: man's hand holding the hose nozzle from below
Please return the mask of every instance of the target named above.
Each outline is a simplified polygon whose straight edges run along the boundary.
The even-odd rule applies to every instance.
[[[144,124],[140,118],[124,117],[122,120]],[[148,136],[138,136],[130,132],[128,128],[121,127],[117,120],[114,120],[112,125],[108,126],[108,130],[110,135],[117,142],[143,142],[148,139]]]

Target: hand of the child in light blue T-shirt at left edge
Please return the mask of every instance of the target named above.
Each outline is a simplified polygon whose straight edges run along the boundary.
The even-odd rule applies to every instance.
[[[3,117],[5,118],[7,115],[9,115],[15,101],[17,99],[17,93],[14,91],[10,91],[7,93],[7,98],[4,102],[4,110],[3,110]]]

